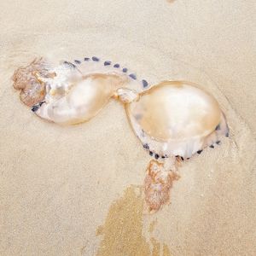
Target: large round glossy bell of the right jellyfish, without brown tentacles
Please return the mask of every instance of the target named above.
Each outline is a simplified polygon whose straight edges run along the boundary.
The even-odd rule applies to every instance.
[[[189,158],[228,132],[215,98],[189,82],[154,85],[125,109],[133,131],[156,159]]]

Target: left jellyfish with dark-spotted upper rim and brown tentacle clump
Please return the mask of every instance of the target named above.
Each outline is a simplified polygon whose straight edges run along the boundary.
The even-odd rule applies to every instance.
[[[108,103],[114,92],[131,78],[119,68],[92,62],[62,61],[54,66],[36,59],[14,74],[14,87],[20,99],[39,117],[61,125],[88,121]]]

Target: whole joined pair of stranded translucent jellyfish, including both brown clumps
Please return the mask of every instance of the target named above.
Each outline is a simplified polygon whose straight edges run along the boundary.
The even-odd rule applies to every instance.
[[[144,180],[155,212],[170,200],[177,166],[229,136],[216,99],[196,84],[164,81],[150,88],[126,67],[97,57],[54,66],[36,59],[14,74],[20,100],[39,117],[61,125],[88,121],[110,101],[122,102],[131,128],[153,158]]]

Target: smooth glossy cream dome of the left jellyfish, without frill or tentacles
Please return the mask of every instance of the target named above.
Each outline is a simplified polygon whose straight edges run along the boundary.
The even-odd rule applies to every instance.
[[[113,92],[124,84],[114,74],[91,74],[68,86],[52,86],[49,101],[36,113],[61,125],[74,125],[88,121],[108,103]]]

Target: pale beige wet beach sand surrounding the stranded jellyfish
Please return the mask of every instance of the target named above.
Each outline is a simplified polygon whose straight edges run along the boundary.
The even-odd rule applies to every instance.
[[[0,255],[145,255],[132,234],[151,250],[157,241],[154,255],[255,255],[255,12],[253,0],[0,0]],[[152,83],[200,83],[231,136],[183,164],[161,212],[115,207],[143,183],[148,155],[117,102],[73,127],[28,111],[10,78],[38,55],[97,55]],[[122,214],[112,232],[109,216]],[[127,216],[137,220],[126,225]],[[110,235],[96,236],[104,224]]]

